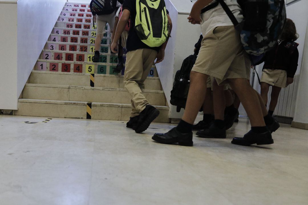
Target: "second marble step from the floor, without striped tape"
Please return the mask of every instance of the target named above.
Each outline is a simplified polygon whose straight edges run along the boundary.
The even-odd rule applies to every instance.
[[[164,91],[145,90],[152,105],[166,105]],[[130,103],[131,96],[123,88],[26,84],[22,98],[87,102]]]

